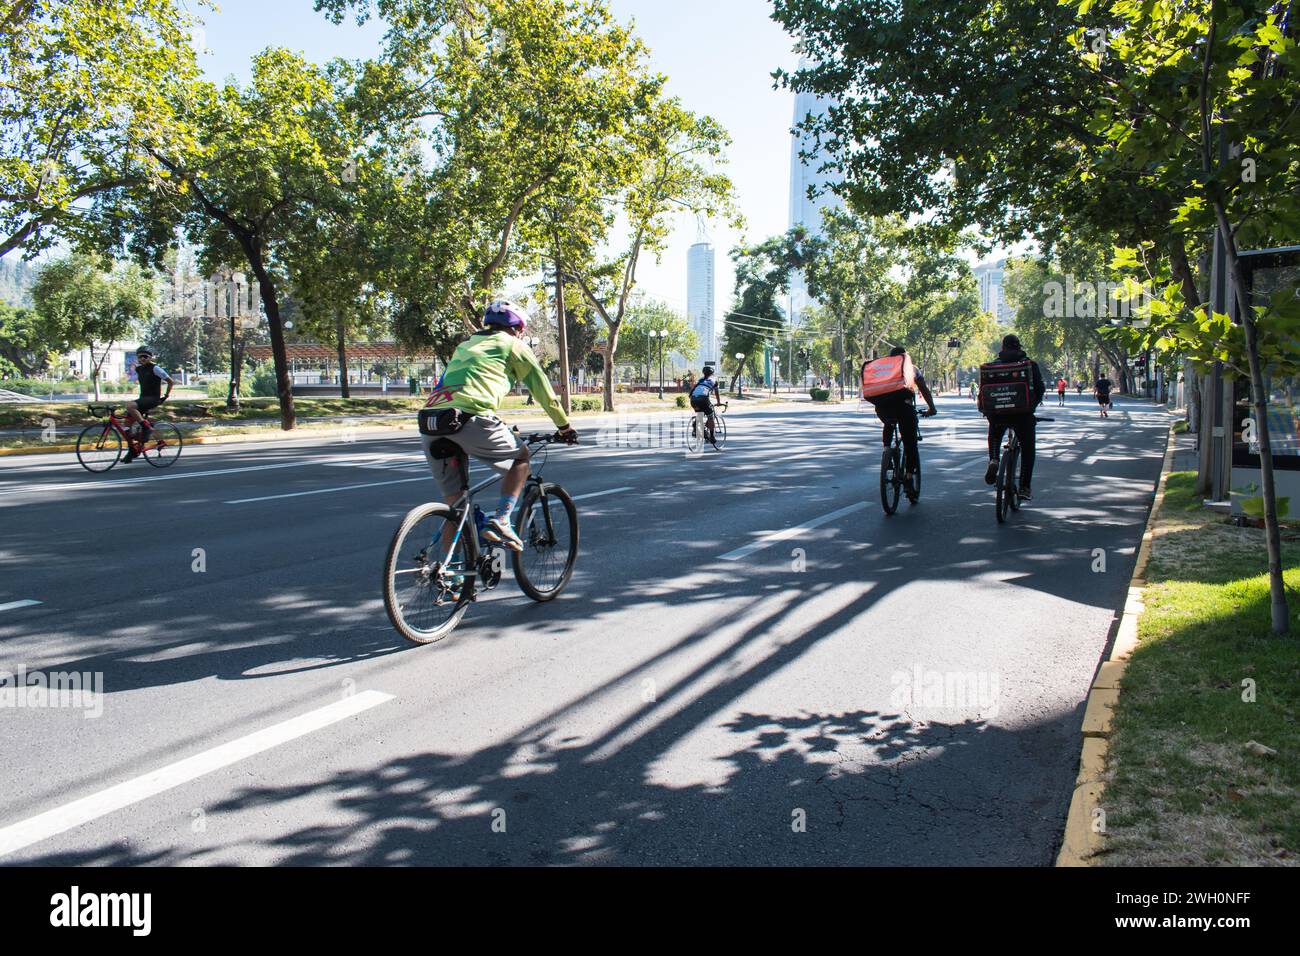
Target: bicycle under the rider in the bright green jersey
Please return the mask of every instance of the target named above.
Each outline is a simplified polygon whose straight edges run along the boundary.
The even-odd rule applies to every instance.
[[[515,429],[517,433],[517,429]],[[532,451],[532,470],[519,509],[515,533],[524,550],[514,553],[515,581],[534,601],[554,601],[573,575],[577,561],[577,507],[568,492],[542,480],[546,446],[564,442],[558,434],[523,438]],[[459,450],[458,450],[459,451]],[[464,454],[464,453],[460,453]],[[454,505],[417,505],[393,535],[384,559],[384,607],[398,633],[415,644],[433,644],[451,633],[465,609],[500,584],[504,549],[481,537],[486,516],[474,496],[500,481],[500,473],[467,489]]]

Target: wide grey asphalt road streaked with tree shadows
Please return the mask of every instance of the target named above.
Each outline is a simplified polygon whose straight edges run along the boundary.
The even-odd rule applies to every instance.
[[[103,680],[0,701],[0,864],[1050,864],[1167,432],[1054,402],[1001,527],[966,398],[893,518],[855,405],[588,424],[566,594],[430,646],[380,596],[412,433],[0,459],[0,670]]]

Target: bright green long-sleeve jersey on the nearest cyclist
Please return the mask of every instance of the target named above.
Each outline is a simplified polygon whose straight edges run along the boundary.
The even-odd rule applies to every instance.
[[[523,384],[556,427],[568,416],[532,349],[508,332],[484,329],[456,346],[429,406],[460,408],[471,415],[495,412],[510,390]]]

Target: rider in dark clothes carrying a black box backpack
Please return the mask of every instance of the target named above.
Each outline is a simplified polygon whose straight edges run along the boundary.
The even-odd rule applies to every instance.
[[[979,410],[988,419],[988,468],[984,484],[997,481],[1002,438],[1010,428],[1020,444],[1019,497],[1030,501],[1034,497],[1030,492],[1036,432],[1034,410],[1041,405],[1046,393],[1043,372],[1039,363],[1032,362],[1020,349],[1017,336],[1005,336],[997,360],[980,365],[979,377]]]

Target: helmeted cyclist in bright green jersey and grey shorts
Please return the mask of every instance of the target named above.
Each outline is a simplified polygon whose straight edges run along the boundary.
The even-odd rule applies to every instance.
[[[488,516],[484,537],[512,551],[524,549],[510,516],[528,480],[528,449],[497,418],[497,410],[515,384],[521,382],[555,423],[560,437],[569,444],[577,441],[577,432],[569,427],[537,356],[521,341],[525,328],[528,311],[523,306],[499,300],[488,307],[484,328],[456,347],[442,381],[425,403],[428,408],[445,410],[436,418],[443,433],[421,436],[425,458],[448,505],[469,485],[468,457],[504,472],[497,512]],[[463,454],[436,457],[439,447],[446,447],[442,438],[455,442]]]

